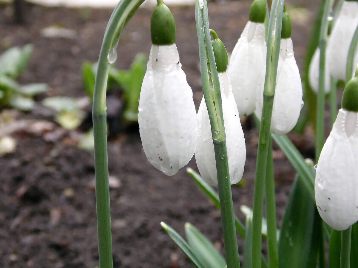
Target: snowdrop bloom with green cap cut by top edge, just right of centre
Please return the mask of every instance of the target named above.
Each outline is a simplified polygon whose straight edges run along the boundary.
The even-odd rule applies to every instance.
[[[238,39],[228,66],[232,91],[240,115],[255,110],[257,81],[266,67],[265,41],[266,1],[255,0],[250,8],[250,20]]]

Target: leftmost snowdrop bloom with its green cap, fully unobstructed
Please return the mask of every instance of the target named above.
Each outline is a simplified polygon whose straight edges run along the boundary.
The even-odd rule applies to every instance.
[[[174,18],[161,0],[152,14],[151,37],[139,98],[139,133],[149,162],[174,175],[193,157],[198,126],[193,92],[174,43]]]

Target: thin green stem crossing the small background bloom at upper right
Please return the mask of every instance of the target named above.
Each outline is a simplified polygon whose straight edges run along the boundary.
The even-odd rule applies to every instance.
[[[322,15],[321,30],[319,37],[319,82],[317,98],[317,121],[316,121],[316,162],[323,148],[324,141],[324,87],[326,68],[326,45],[328,31],[328,13],[332,9],[333,0],[326,0]]]

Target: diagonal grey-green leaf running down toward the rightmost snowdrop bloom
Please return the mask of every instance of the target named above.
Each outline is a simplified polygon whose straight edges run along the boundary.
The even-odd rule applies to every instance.
[[[314,181],[315,181],[315,173],[312,167],[310,167],[299,150],[295,147],[295,145],[291,142],[286,135],[276,135],[271,134],[272,138],[275,140],[277,145],[281,148],[282,152],[289,159],[296,172],[299,174],[300,178],[303,180],[306,188],[308,190],[308,194],[311,195],[312,200],[315,200],[314,195]]]

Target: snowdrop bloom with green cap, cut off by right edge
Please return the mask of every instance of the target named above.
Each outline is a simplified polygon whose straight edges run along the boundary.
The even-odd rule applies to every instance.
[[[358,220],[358,78],[343,91],[342,109],[320,154],[315,197],[321,218],[345,230]]]

